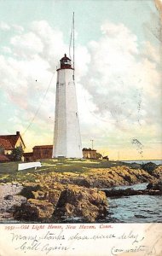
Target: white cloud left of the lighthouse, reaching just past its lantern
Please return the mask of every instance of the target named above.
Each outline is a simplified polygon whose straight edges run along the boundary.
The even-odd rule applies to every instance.
[[[53,133],[56,66],[60,65],[59,60],[68,46],[63,41],[62,33],[52,29],[45,20],[32,22],[27,32],[20,31],[15,30],[10,36],[9,47],[3,47],[3,52],[9,53],[9,56],[0,55],[0,87],[8,96],[12,108],[18,109],[10,122],[18,126],[16,119],[21,116],[21,128],[26,130],[35,117],[34,123],[43,128],[42,132]],[[78,46],[76,51],[79,80],[83,71],[86,72],[86,59],[89,61],[89,58],[84,47]],[[49,132],[44,125],[47,122],[50,124]]]

